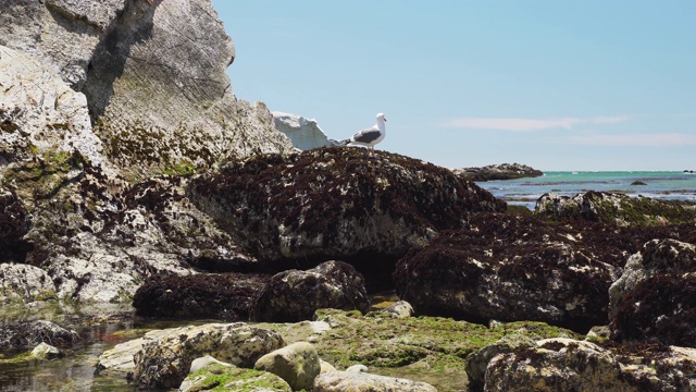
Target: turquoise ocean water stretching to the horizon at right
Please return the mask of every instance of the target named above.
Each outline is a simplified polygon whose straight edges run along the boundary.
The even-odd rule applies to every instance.
[[[635,182],[645,185],[634,185]],[[549,192],[564,196],[588,191],[614,192],[629,196],[696,203],[696,173],[676,171],[550,171],[539,177],[476,184],[510,205],[521,205],[532,210],[536,200]]]

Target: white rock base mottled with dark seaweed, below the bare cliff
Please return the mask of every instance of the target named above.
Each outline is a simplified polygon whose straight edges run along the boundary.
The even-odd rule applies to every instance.
[[[33,206],[17,261],[44,269],[61,298],[129,302],[148,277],[188,274],[199,260],[229,270],[256,264],[186,199],[184,177],[126,184],[65,152],[15,163],[4,174]]]

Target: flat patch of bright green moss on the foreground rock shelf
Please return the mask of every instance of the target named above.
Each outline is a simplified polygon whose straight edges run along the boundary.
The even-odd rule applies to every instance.
[[[335,309],[320,309],[315,319],[328,322],[332,329],[314,333],[310,323],[262,323],[260,327],[277,330],[288,344],[311,341],[322,359],[338,369],[356,364],[380,368],[427,364],[431,370],[463,371],[467,355],[507,334],[523,334],[534,340],[582,339],[572,331],[533,321],[487,328],[443,317],[395,319],[380,313],[360,316]]]

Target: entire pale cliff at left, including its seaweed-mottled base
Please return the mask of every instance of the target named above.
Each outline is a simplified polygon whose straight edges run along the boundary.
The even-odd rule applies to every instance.
[[[0,261],[42,269],[78,302],[130,301],[191,266],[249,270],[183,176],[152,176],[291,149],[262,103],[232,95],[234,46],[210,1],[2,7]]]

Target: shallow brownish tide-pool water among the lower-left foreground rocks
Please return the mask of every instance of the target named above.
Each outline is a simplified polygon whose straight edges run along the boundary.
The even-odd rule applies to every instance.
[[[373,310],[378,310],[398,301],[394,291],[375,293],[371,298],[375,305]],[[125,378],[97,373],[96,365],[99,356],[116,344],[140,338],[153,329],[220,322],[220,320],[142,319],[134,318],[133,311],[134,309],[129,306],[104,305],[99,308],[89,308],[65,304],[48,307],[37,306],[28,309],[3,309],[0,323],[36,319],[51,320],[75,329],[87,339],[82,346],[73,347],[66,351],[64,357],[52,360],[9,364],[3,363],[0,356],[0,391],[141,391],[129,384]],[[104,315],[116,316],[104,318]],[[92,324],[85,327],[85,320]],[[399,373],[397,370],[394,371],[396,371],[395,376]],[[405,370],[401,372],[401,377],[406,377],[408,372]]]

